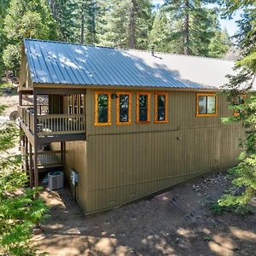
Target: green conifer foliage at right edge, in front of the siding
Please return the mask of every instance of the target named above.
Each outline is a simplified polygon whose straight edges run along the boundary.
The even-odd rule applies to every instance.
[[[232,97],[230,98],[230,100]],[[233,105],[232,105],[233,103]],[[237,117],[230,117],[223,119],[224,123],[241,122],[246,129],[245,140],[242,141],[241,146],[244,149],[238,160],[239,164],[230,169],[230,173],[234,176],[232,183],[236,188],[245,188],[241,195],[234,195],[230,193],[224,195],[219,201],[219,207],[232,207],[237,211],[247,207],[247,203],[251,200],[256,191],[256,96],[247,95],[247,98],[242,104],[236,105],[230,103],[231,108],[240,110]]]

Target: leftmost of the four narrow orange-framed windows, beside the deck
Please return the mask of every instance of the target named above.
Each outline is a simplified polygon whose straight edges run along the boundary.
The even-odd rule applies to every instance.
[[[110,92],[97,91],[95,94],[95,125],[111,125]]]

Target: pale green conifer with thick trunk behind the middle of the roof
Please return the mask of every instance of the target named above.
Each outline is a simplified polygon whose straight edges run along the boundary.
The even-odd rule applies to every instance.
[[[100,44],[146,49],[152,26],[148,0],[108,0],[104,5]]]

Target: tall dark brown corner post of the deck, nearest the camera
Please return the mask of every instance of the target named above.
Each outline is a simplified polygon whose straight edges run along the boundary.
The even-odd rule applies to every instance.
[[[34,186],[38,187],[38,95],[33,90],[34,108]]]

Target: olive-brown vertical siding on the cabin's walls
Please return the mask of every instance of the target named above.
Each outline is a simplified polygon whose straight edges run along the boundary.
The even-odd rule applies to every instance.
[[[220,117],[232,114],[225,96],[218,96],[217,117],[196,117],[195,91],[169,91],[168,123],[154,124],[151,90],[150,123],[137,124],[136,90],[131,92],[131,125],[115,125],[116,99],[111,99],[112,125],[95,126],[95,90],[87,90],[86,142],[66,144],[67,169],[81,176],[78,199],[86,212],[119,207],[236,164],[243,131],[239,124],[221,123]]]

